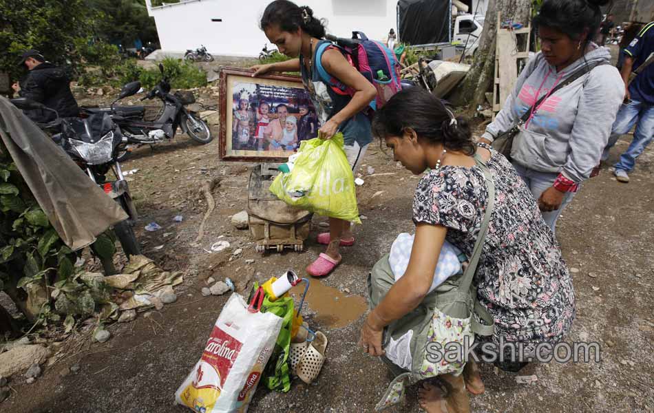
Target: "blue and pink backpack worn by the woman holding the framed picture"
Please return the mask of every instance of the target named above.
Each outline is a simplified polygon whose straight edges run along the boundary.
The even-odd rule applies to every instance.
[[[352,96],[355,90],[328,74],[323,67],[322,54],[330,47],[341,50],[350,65],[359,70],[359,73],[375,86],[377,98],[370,103],[373,110],[382,107],[402,89],[400,64],[394,52],[379,41],[368,39],[368,36],[362,32],[352,32],[352,39],[328,36],[328,40],[332,43],[325,42],[318,46],[315,65],[321,79],[337,94]]]

